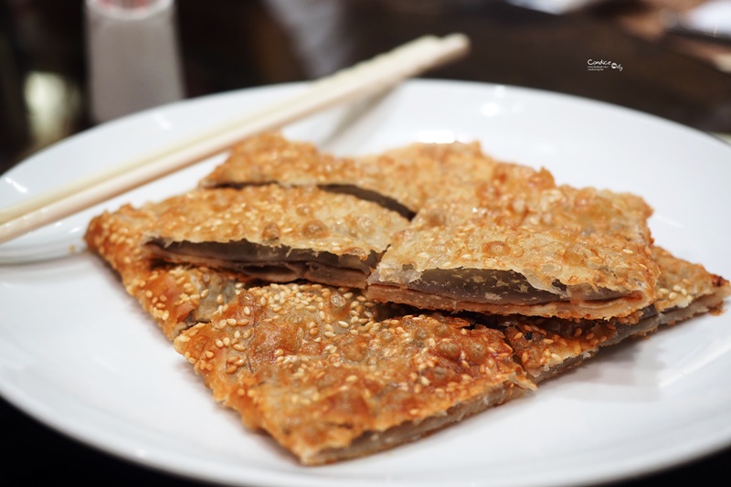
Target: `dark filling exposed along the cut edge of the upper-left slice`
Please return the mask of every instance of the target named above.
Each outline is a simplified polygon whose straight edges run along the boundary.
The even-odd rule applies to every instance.
[[[266,281],[306,279],[333,286],[364,288],[380,255],[371,252],[365,260],[355,255],[335,255],[312,249],[270,247],[246,240],[237,242],[171,242],[154,238],[145,244],[155,256],[173,262],[191,261],[220,269],[242,272]]]

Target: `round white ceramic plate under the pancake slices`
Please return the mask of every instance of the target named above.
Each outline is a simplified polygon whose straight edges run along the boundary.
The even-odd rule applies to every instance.
[[[144,154],[301,89],[243,90],[103,125],[5,175],[0,203]],[[731,146],[672,122],[535,90],[415,80],[286,133],[337,154],[415,141],[479,140],[499,158],[546,166],[560,183],[645,196],[656,210],[651,225],[658,243],[731,276]],[[181,192],[220,160],[104,206]],[[18,240],[3,246],[5,257],[35,259],[18,255],[22,248],[46,257],[64,253],[59,249],[78,239],[101,207],[38,230],[22,245]],[[4,397],[73,438],[196,479],[265,486],[572,485],[660,470],[731,444],[728,314],[606,350],[534,395],[416,443],[302,468],[267,437],[243,429],[235,413],[219,408],[111,271],[86,252],[0,266],[0,307]]]

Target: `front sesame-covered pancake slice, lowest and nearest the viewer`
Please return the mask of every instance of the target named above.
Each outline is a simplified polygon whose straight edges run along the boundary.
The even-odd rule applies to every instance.
[[[503,333],[440,315],[376,321],[354,291],[273,284],[181,333],[213,396],[303,464],[418,439],[534,389]]]

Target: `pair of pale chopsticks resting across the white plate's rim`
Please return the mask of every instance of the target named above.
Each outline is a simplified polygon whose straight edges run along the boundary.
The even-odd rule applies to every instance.
[[[242,139],[278,129],[345,101],[355,101],[459,58],[469,49],[461,34],[419,37],[399,48],[319,79],[299,95],[154,154],[0,208],[0,243],[68,217],[113,196],[228,150]]]

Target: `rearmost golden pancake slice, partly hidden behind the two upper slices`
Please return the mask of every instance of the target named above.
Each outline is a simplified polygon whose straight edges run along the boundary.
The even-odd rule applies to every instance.
[[[239,143],[200,185],[317,185],[374,201],[410,218],[445,189],[445,182],[490,179],[493,164],[478,143],[414,143],[383,154],[348,158],[323,154],[312,143],[267,132]]]

